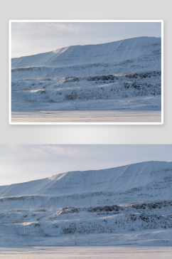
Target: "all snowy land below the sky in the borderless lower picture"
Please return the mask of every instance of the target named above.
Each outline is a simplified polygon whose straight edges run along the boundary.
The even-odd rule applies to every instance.
[[[172,162],[0,186],[0,258],[170,258],[171,195]]]

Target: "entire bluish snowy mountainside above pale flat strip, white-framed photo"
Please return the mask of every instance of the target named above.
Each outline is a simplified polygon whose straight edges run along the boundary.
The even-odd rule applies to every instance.
[[[12,112],[161,111],[161,38],[70,46],[11,65]]]

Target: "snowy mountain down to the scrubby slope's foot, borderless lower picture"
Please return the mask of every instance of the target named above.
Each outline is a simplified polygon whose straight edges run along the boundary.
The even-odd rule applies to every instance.
[[[0,186],[0,230],[53,237],[172,228],[171,196],[172,162],[70,171]]]

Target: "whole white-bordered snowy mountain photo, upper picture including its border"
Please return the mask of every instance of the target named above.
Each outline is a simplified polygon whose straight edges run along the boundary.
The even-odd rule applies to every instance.
[[[9,21],[9,124],[162,125],[163,21]]]

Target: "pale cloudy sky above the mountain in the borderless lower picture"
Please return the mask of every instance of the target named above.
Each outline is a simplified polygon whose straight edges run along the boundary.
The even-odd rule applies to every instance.
[[[43,179],[67,171],[107,169],[146,161],[172,162],[163,145],[0,145],[0,185]]]

